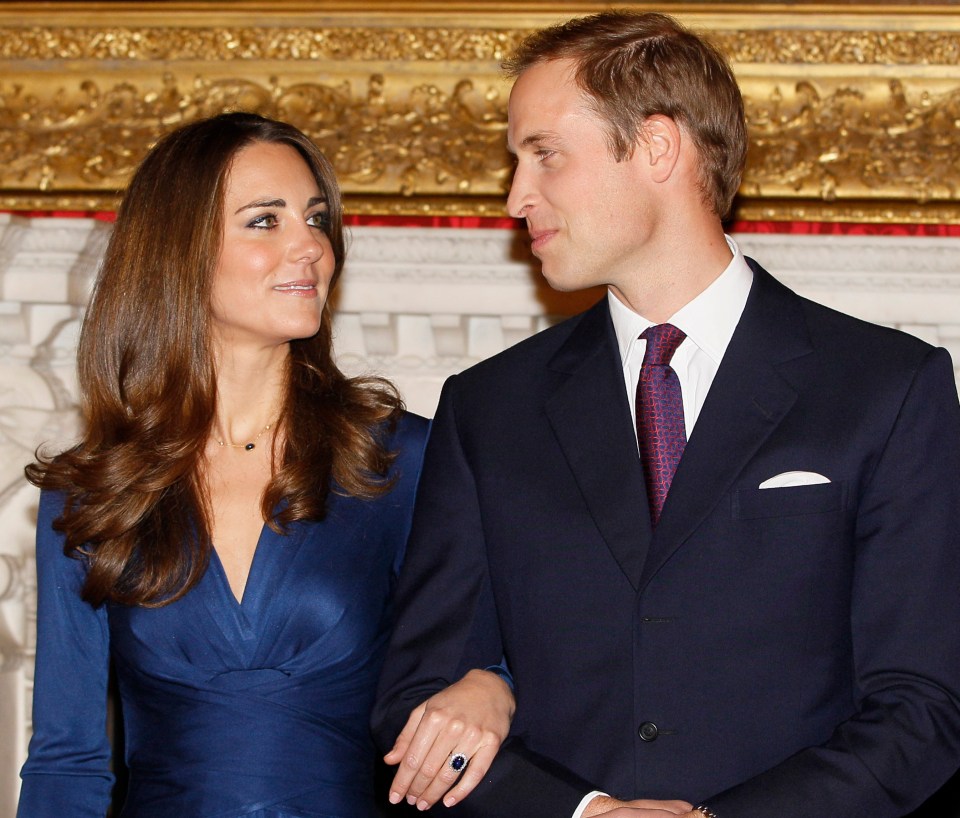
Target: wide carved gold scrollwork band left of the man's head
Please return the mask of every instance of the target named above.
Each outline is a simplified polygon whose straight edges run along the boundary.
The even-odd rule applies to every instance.
[[[88,79],[42,103],[0,81],[4,187],[109,193],[163,131],[221,110],[251,110],[308,133],[349,193],[503,193],[509,160],[499,93],[463,79],[449,91],[414,85],[396,100],[384,94],[383,74],[361,83],[196,76],[183,85],[167,73],[157,87]]]

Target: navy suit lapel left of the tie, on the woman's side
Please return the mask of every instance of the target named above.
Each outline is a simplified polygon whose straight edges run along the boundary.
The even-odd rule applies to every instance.
[[[637,588],[650,513],[605,298],[583,315],[550,368],[562,380],[547,417],[601,536]]]

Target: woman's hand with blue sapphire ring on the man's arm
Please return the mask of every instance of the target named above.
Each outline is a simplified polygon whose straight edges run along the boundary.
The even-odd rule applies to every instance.
[[[390,785],[390,803],[406,798],[425,810],[444,793],[448,807],[466,798],[510,732],[515,708],[509,685],[486,670],[471,670],[415,708],[384,756],[387,764],[400,765]],[[459,772],[449,764],[457,753],[466,758],[466,767]]]

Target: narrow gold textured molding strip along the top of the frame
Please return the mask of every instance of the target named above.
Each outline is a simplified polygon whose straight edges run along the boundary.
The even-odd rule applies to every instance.
[[[625,4],[627,5],[627,4]],[[314,7],[322,8],[322,4]],[[888,12],[886,12],[888,13]],[[416,12],[411,13],[412,18]],[[763,14],[764,17],[770,15]],[[187,12],[189,17],[189,12]],[[363,16],[363,12],[352,15]],[[838,22],[849,15],[833,15]],[[782,19],[776,15],[771,19]],[[531,31],[529,27],[409,25],[378,29],[365,26],[283,26],[265,35],[262,26],[120,25],[0,26],[2,60],[150,60],[233,62],[499,62]],[[735,63],[771,65],[956,65],[960,46],[945,31],[891,29],[835,30],[825,27],[792,32],[718,31],[712,35]]]

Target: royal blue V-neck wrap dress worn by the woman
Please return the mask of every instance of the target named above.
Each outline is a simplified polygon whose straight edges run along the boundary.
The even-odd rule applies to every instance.
[[[393,619],[427,423],[407,415],[394,489],[331,494],[322,522],[264,526],[238,603],[214,554],[161,608],[80,599],[41,496],[34,734],[18,818],[106,813],[109,661],[130,772],[124,818],[370,818],[369,714]]]

